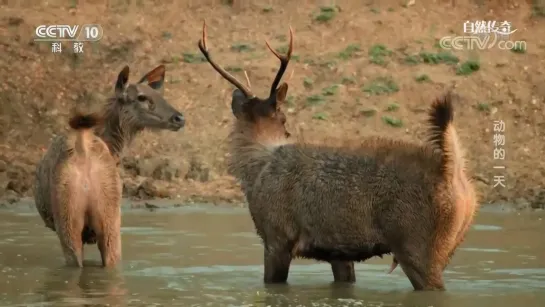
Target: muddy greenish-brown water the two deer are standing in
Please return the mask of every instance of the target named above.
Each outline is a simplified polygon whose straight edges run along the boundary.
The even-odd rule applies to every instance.
[[[545,214],[480,212],[445,273],[447,292],[415,293],[391,257],[356,265],[355,285],[297,260],[289,284],[262,283],[262,247],[245,209],[123,213],[123,263],[64,267],[54,233],[31,209],[0,211],[0,306],[543,306]]]

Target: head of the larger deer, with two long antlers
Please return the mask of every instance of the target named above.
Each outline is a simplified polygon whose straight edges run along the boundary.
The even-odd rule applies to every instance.
[[[210,52],[206,46],[206,22],[203,24],[202,39],[199,40],[198,44],[199,49],[208,63],[210,63],[223,78],[236,87],[232,94],[231,110],[236,117],[237,122],[243,127],[251,128],[250,130],[255,138],[272,142],[285,140],[290,137],[290,133],[285,128],[286,116],[280,110],[280,107],[286,101],[288,84],[285,82],[280,86],[278,86],[278,84],[286,71],[293,51],[293,31],[291,27],[289,49],[286,55],[283,56],[278,54],[278,52],[271,48],[268,42],[266,42],[266,45],[280,60],[280,68],[271,85],[269,97],[261,99],[252,93],[250,84],[246,87],[211,58]]]

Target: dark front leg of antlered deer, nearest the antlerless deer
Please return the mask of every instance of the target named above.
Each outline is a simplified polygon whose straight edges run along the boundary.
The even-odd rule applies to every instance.
[[[288,273],[291,264],[291,253],[289,248],[271,248],[265,246],[265,276],[266,284],[285,283],[288,280]]]

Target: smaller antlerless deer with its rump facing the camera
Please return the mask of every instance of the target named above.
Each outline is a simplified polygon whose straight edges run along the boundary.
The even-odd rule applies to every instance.
[[[122,183],[117,164],[122,151],[144,129],[178,131],[185,125],[182,113],[160,93],[164,78],[160,65],[129,84],[125,66],[103,114],[75,115],[70,125],[76,131],[56,136],[39,162],[36,208],[45,226],[59,236],[67,264],[81,267],[83,244],[97,241],[104,266],[120,260]],[[99,130],[98,135],[91,129]]]

